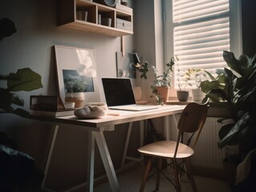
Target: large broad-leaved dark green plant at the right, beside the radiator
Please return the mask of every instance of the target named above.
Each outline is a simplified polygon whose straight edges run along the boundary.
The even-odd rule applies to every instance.
[[[210,98],[215,106],[230,112],[232,121],[221,127],[217,146],[220,149],[239,146],[238,154],[224,159],[225,162],[236,161],[238,165],[256,148],[256,54],[253,58],[241,55],[237,59],[232,52],[223,51],[223,58],[230,69],[225,68],[225,73],[217,78],[209,74],[211,81],[201,82],[201,90],[205,92],[204,100]],[[226,118],[221,118],[218,122],[224,120]]]

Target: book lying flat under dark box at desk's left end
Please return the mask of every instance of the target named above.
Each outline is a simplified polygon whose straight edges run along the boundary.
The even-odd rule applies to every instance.
[[[63,117],[63,116],[74,115],[74,111],[75,109],[56,110],[56,111],[32,110],[31,114],[35,116]]]

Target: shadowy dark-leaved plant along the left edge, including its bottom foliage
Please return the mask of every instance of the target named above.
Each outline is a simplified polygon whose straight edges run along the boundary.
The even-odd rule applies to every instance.
[[[0,41],[15,32],[14,22],[9,18],[0,20]],[[41,79],[41,76],[30,70],[30,68],[19,69],[16,73],[1,74],[0,80],[6,82],[6,86],[5,88],[0,88],[0,114],[11,113],[23,118],[30,118],[29,112],[20,108],[24,106],[24,100],[16,93],[18,91],[31,91],[42,88]],[[31,188],[31,180],[36,181],[33,177],[35,177],[35,174],[39,175],[39,171],[35,172],[34,170],[35,159],[19,150],[18,143],[2,131],[0,131],[0,159],[0,178],[5,178],[1,182],[1,191],[18,191]],[[42,179],[39,178],[40,181],[36,181],[39,182],[39,186],[43,181],[43,174],[40,174],[41,176]],[[33,185],[34,187],[38,188],[38,186]]]

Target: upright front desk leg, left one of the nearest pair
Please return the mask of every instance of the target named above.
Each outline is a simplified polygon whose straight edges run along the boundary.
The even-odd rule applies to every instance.
[[[87,191],[93,192],[95,135],[91,131],[88,134]]]

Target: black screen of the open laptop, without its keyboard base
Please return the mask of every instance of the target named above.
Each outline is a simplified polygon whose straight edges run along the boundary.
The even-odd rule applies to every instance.
[[[131,79],[102,78],[102,83],[108,106],[136,104]]]

